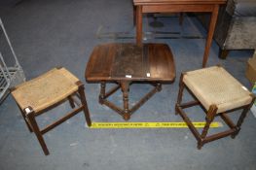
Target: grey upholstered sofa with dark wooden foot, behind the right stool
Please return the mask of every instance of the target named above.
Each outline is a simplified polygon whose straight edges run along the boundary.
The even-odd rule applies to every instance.
[[[209,16],[199,16],[207,27]],[[219,57],[225,59],[231,50],[254,50],[256,47],[256,1],[228,0],[220,8],[214,39]]]

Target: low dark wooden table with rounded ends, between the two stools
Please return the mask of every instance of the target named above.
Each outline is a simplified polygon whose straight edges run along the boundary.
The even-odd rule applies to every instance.
[[[86,80],[100,83],[99,103],[105,104],[128,120],[130,115],[157,91],[161,83],[172,83],[175,66],[172,53],[165,44],[106,44],[99,45],[91,53],[86,69]],[[105,91],[106,83],[118,85]],[[128,108],[128,90],[133,82],[146,82],[155,86],[132,108]],[[123,91],[124,109],[107,100],[119,88]]]

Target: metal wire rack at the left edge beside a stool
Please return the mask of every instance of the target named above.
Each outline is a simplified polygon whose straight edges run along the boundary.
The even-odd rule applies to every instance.
[[[1,40],[1,50],[10,51],[6,57],[3,56],[0,50],[0,104],[5,99],[5,97],[10,93],[10,88],[20,84],[25,81],[25,76],[23,70],[18,63],[17,55],[13,49],[10,39],[5,30],[2,19],[0,18],[0,40]],[[2,36],[3,35],[3,36]],[[2,44],[6,42],[6,44]],[[8,64],[5,61],[8,60]]]

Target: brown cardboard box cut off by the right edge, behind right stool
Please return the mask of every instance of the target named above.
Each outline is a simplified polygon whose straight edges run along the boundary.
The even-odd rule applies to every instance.
[[[245,76],[252,85],[256,82],[256,55],[248,59]]]

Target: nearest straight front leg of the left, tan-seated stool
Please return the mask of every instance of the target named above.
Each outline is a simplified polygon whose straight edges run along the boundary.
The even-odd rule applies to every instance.
[[[49,154],[49,151],[48,151],[48,148],[47,148],[47,146],[46,146],[46,143],[45,143],[45,140],[44,140],[44,138],[43,138],[43,135],[42,135],[42,133],[41,133],[41,131],[40,131],[38,125],[37,125],[37,122],[36,122],[36,119],[35,119],[35,116],[34,116],[34,112],[31,111],[31,112],[28,113],[26,116],[27,116],[27,118],[29,119],[29,121],[30,121],[30,123],[31,123],[31,126],[32,126],[32,128],[33,128],[33,131],[34,131],[34,133],[35,133],[35,135],[36,135],[36,137],[37,137],[37,139],[38,139],[38,141],[39,141],[39,143],[40,143],[40,145],[41,145],[41,147],[42,147],[44,153],[45,153],[46,155],[48,155],[48,154]]]

